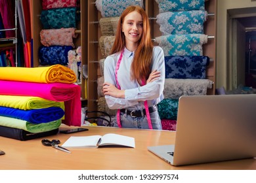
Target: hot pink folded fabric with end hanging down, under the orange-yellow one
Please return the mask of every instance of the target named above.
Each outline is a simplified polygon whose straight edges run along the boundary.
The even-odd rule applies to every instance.
[[[66,125],[81,126],[81,89],[68,83],[36,83],[0,80],[0,95],[41,97],[51,101],[64,101]]]

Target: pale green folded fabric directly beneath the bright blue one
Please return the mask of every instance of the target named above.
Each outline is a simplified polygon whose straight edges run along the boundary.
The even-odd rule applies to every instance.
[[[18,129],[24,129],[31,133],[39,133],[39,132],[51,131],[53,129],[60,127],[61,120],[56,120],[53,122],[42,123],[42,124],[32,124],[25,120],[0,116],[0,125],[5,127],[14,127]]]

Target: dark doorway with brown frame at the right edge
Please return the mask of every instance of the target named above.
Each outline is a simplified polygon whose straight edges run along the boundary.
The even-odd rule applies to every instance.
[[[228,10],[228,86],[256,88],[256,7]]]

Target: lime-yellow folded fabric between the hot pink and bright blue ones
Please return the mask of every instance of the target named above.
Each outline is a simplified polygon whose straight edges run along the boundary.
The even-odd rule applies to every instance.
[[[64,110],[64,102],[49,101],[40,97],[0,95],[0,106],[19,108],[22,110],[60,107]]]

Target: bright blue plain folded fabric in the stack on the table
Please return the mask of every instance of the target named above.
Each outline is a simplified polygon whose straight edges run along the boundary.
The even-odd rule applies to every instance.
[[[64,110],[60,107],[21,110],[0,106],[0,116],[25,120],[32,124],[41,124],[60,120],[64,116]]]

